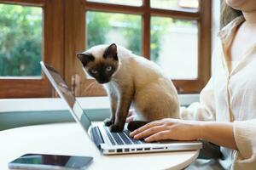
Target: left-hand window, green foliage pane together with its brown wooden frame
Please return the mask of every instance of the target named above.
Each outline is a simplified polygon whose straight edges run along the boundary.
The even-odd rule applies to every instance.
[[[52,96],[39,61],[58,70],[63,65],[61,57],[54,57],[62,53],[55,17],[61,14],[60,2],[0,1],[0,98]]]

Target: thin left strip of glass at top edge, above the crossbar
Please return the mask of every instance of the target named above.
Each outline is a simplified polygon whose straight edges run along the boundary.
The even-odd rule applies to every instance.
[[[113,3],[113,4],[119,4],[119,5],[131,5],[131,6],[142,6],[143,1],[142,0],[87,0],[89,2],[95,2],[95,3]]]

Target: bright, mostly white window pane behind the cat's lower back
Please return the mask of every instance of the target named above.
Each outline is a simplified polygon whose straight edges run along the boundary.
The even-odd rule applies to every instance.
[[[198,27],[195,20],[151,18],[151,60],[172,79],[197,78]]]

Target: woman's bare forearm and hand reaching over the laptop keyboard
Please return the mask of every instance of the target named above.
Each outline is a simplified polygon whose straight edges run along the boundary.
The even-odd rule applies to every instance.
[[[135,139],[145,138],[146,142],[164,139],[196,140],[204,139],[236,150],[231,122],[201,122],[179,119],[162,119],[150,122],[131,133]]]

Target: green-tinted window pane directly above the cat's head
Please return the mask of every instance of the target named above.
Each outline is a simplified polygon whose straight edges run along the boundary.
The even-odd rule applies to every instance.
[[[86,48],[117,43],[134,54],[141,54],[142,19],[134,14],[86,13]]]

